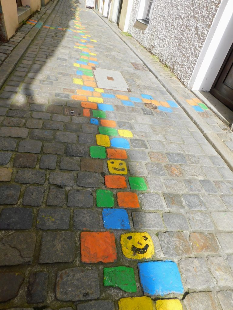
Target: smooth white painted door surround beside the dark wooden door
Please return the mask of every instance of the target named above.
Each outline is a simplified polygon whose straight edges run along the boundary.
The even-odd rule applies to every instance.
[[[188,84],[209,91],[233,42],[233,1],[222,0]]]

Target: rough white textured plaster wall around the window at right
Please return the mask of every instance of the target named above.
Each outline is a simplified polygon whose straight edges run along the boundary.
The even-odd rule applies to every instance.
[[[139,1],[128,32],[187,85],[221,0],[155,0],[146,30],[134,27]]]

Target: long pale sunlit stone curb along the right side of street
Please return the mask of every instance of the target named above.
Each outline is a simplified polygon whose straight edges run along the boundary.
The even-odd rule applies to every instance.
[[[233,171],[233,154],[226,146],[226,144],[212,131],[211,127],[199,116],[199,114],[186,103],[184,99],[180,98],[180,94],[171,86],[171,84],[160,73],[150,67],[150,63],[145,57],[129,42],[126,36],[120,33],[120,30],[114,29],[113,25],[101,16],[96,10],[93,10],[114,33],[134,52],[136,56],[143,62],[146,68],[157,78],[160,84],[173,97],[179,106],[185,111],[187,116],[198,127],[205,139],[212,145],[216,152],[222,157],[227,166]]]

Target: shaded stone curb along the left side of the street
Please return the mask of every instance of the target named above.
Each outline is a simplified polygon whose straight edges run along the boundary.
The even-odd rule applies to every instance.
[[[49,15],[52,13],[53,9],[56,7],[59,1],[60,0],[54,1],[50,8],[38,20],[39,24],[43,25],[45,23],[45,21],[48,19]],[[11,52],[7,59],[4,60],[3,64],[0,67],[0,89],[9,78],[10,74],[15,69],[16,64],[19,62],[20,58],[29,47],[30,43],[33,41],[40,29],[41,27],[39,28],[34,26],[25,36],[25,38],[15,47],[15,49]]]

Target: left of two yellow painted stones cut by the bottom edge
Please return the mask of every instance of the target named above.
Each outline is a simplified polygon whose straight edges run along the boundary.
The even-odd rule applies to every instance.
[[[118,301],[119,310],[155,310],[155,305],[149,297],[126,297]]]

